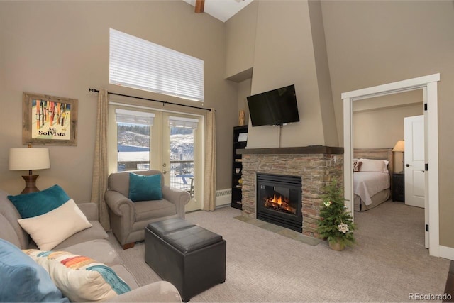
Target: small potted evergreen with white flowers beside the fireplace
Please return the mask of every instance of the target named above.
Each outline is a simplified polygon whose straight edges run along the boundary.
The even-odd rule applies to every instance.
[[[333,250],[343,250],[345,246],[352,246],[355,243],[352,216],[346,210],[343,197],[343,188],[338,186],[334,179],[323,189],[323,203],[320,209],[319,236],[326,238],[329,247]]]

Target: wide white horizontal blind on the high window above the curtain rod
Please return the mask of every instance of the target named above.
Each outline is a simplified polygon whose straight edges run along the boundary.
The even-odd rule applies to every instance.
[[[109,83],[204,101],[204,60],[110,29]]]

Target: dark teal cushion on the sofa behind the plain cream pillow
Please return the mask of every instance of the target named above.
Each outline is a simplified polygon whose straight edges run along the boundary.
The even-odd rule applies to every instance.
[[[30,194],[8,196],[23,219],[40,216],[62,206],[71,199],[62,187],[55,184],[48,189]]]

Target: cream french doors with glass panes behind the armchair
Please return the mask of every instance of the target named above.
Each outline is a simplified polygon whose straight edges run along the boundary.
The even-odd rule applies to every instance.
[[[191,195],[186,211],[201,209],[201,116],[121,106],[109,112],[109,133],[116,130],[109,171],[160,170],[166,185]]]

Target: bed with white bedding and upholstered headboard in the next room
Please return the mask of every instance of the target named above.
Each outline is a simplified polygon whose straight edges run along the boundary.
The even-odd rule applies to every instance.
[[[353,155],[360,162],[353,172],[354,209],[365,211],[391,197],[392,148],[357,148]]]

